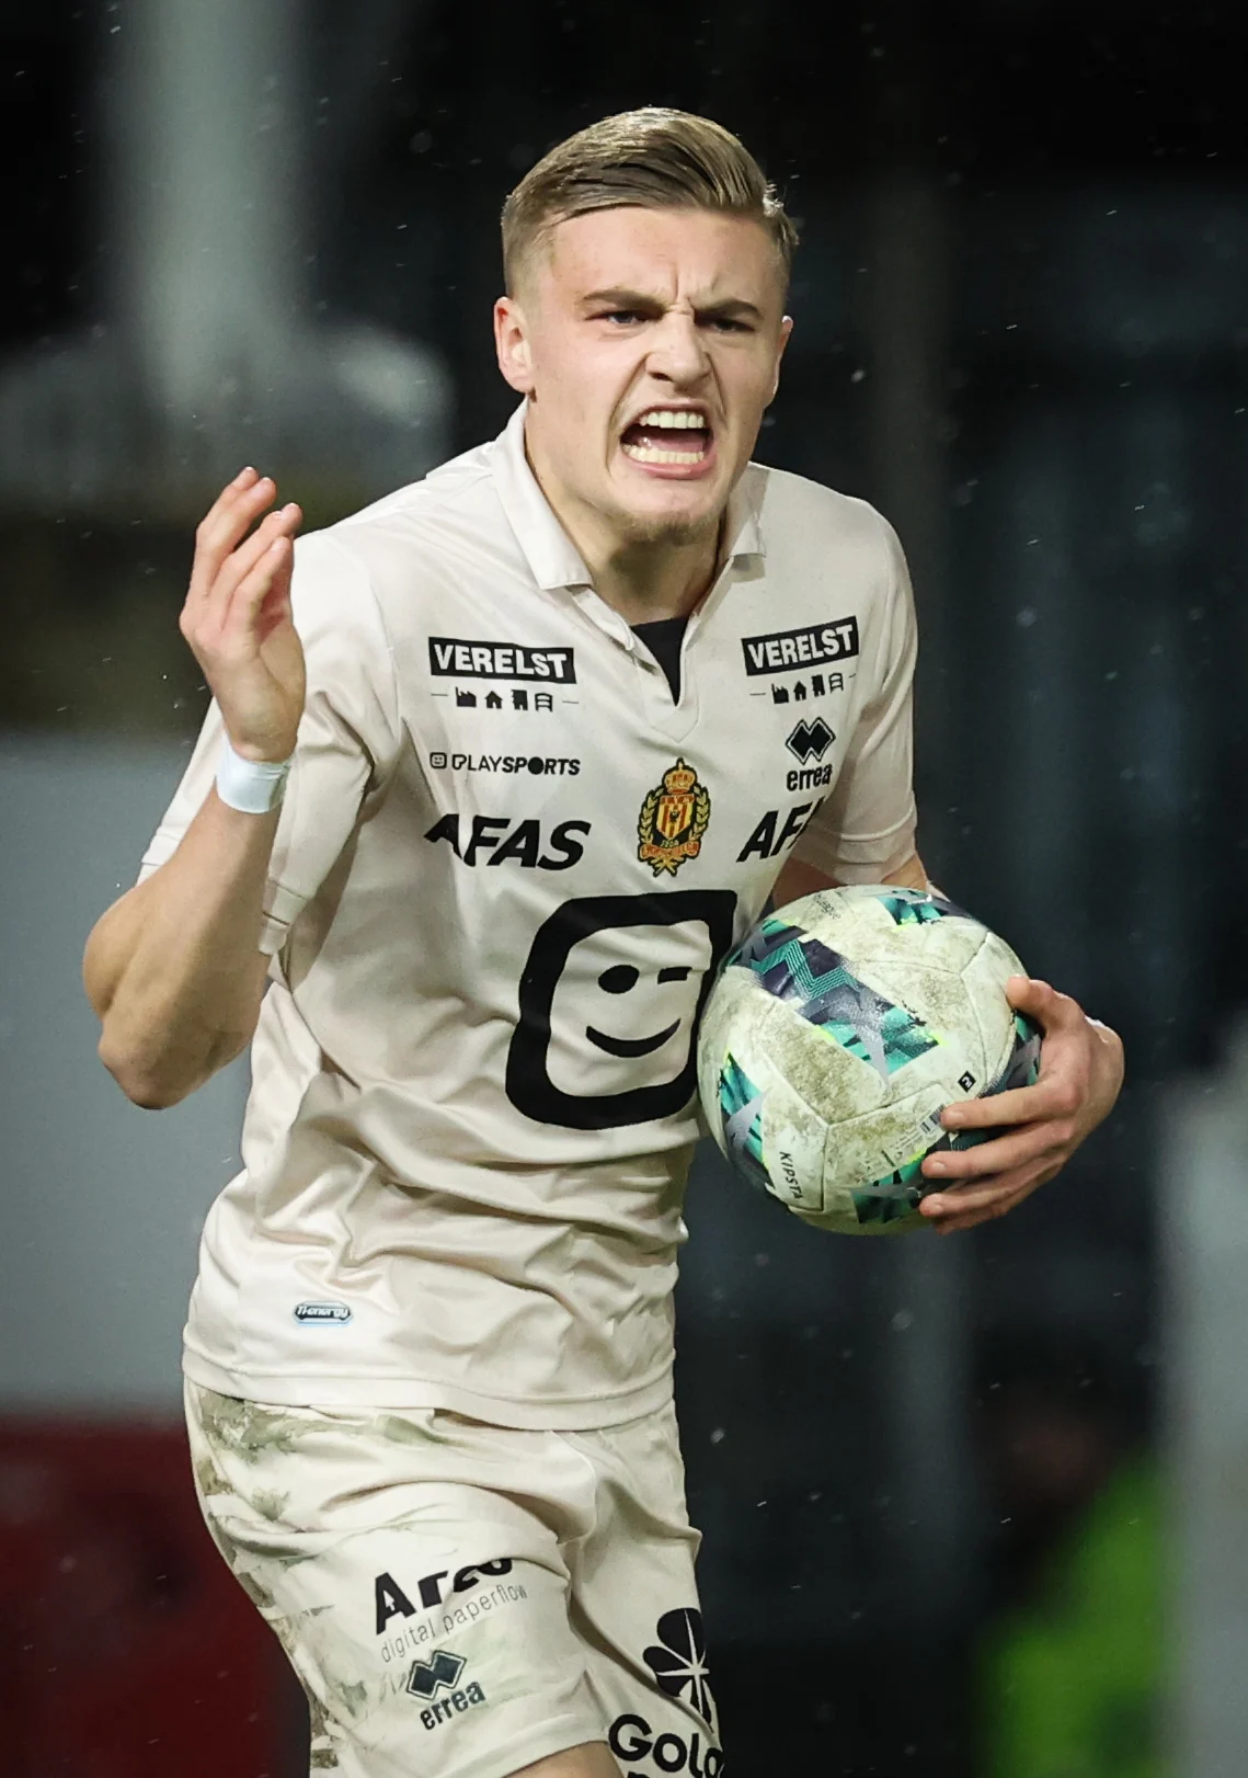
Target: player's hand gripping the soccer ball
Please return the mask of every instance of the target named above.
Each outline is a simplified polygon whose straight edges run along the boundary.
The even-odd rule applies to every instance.
[[[990,1099],[946,1106],[948,1131],[1001,1129],[974,1149],[930,1154],[923,1177],[940,1191],[919,1209],[939,1234],[1004,1216],[1061,1172],[1084,1136],[1113,1109],[1122,1086],[1122,1038],[1088,1019],[1047,981],[1010,976],[1010,1005],[1040,1026],[1040,1076]],[[946,1189],[948,1188],[948,1189]]]

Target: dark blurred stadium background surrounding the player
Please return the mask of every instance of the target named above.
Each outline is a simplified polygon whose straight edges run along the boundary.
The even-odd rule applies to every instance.
[[[1241,1778],[1246,55],[1228,0],[0,4],[12,1778],[306,1758],[178,1433],[245,1079],[133,1111],[76,985],[204,706],[194,523],[242,462],[315,525],[496,432],[501,201],[642,103],[800,222],[759,457],[903,537],[932,875],[1129,1056],[1061,1179],[953,1241],[814,1236],[699,1163],[731,1771]]]

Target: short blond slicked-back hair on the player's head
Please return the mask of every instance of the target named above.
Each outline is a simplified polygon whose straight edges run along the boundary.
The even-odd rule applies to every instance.
[[[514,293],[521,263],[556,222],[622,204],[761,222],[788,281],[798,233],[748,149],[709,117],[647,105],[569,135],[524,174],[503,204],[507,290]]]

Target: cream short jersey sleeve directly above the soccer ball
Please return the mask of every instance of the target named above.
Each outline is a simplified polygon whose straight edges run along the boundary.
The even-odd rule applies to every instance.
[[[878,514],[876,514],[878,517]],[[878,519],[884,608],[859,672],[866,695],[832,795],[795,846],[843,884],[878,882],[914,852],[914,592],[896,532]]]

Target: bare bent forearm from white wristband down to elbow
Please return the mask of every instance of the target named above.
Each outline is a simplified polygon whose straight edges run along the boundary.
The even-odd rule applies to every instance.
[[[126,1097],[169,1106],[251,1040],[277,811],[244,814],[215,791],[174,855],[100,919],[84,962],[100,1060]]]

